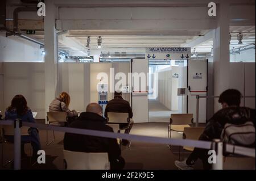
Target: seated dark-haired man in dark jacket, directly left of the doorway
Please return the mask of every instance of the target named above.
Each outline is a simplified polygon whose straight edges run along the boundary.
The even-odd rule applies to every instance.
[[[131,120],[131,118],[133,118],[133,111],[131,110],[131,106],[129,104],[129,102],[127,100],[124,100],[122,98],[122,92],[117,92],[115,91],[114,93],[114,99],[109,100],[106,108],[105,108],[105,113],[104,116],[108,117],[108,112],[126,112],[129,113],[129,119],[131,121],[130,123],[130,130],[133,127],[133,120]],[[119,125],[119,128],[125,128],[127,127],[129,123],[123,123]],[[125,130],[125,133],[129,134],[129,129]],[[122,140],[122,145],[127,145],[129,144],[128,140]]]

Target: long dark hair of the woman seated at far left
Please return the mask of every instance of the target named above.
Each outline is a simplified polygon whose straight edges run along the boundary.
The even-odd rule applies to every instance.
[[[23,95],[15,95],[13,100],[11,100],[11,106],[7,108],[7,111],[16,110],[18,115],[24,115],[27,113],[27,100]]]

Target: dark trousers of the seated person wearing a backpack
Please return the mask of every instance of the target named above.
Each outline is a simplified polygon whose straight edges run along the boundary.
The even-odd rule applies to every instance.
[[[203,166],[205,170],[210,170],[212,169],[212,165],[208,162],[208,151],[207,149],[201,149],[201,148],[195,148],[192,153],[189,155],[187,158],[187,165],[193,165],[196,160],[199,158],[203,162]]]

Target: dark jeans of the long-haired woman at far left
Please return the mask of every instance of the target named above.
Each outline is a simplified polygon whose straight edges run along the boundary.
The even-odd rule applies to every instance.
[[[33,148],[33,157],[35,157],[38,154],[38,150],[41,149],[41,144],[40,144],[40,138],[39,138],[39,133],[38,129],[36,128],[30,128],[29,133],[31,136],[22,136],[21,141],[22,141],[22,153],[24,153],[24,143],[28,143],[31,141],[31,145]],[[9,142],[14,142],[14,137],[13,136],[5,136],[6,140]]]

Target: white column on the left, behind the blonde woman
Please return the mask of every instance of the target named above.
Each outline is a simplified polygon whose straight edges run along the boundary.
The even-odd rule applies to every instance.
[[[57,85],[57,36],[55,29],[56,8],[52,1],[46,0],[46,16],[44,17],[44,76],[46,112],[55,98]]]

